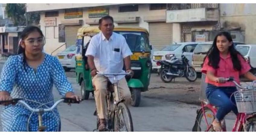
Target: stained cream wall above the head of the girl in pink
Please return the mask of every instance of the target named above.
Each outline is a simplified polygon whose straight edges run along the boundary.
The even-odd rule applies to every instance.
[[[220,4],[221,27],[241,27],[245,31],[245,43],[256,44],[256,4]]]

